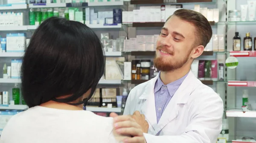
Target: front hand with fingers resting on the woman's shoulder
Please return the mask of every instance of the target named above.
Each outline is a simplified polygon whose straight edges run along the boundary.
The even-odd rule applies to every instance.
[[[141,126],[131,115],[118,116],[116,113],[111,113],[110,117],[113,117],[114,128],[118,134],[131,136],[125,137],[124,143],[146,143]]]

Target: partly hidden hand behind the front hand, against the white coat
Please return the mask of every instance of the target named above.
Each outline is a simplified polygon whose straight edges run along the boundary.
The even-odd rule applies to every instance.
[[[142,127],[144,133],[148,133],[149,125],[145,120],[145,115],[140,114],[139,111],[135,111],[131,117],[134,118],[134,120]]]

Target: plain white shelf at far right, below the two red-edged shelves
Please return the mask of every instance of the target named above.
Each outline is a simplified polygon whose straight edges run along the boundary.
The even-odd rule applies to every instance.
[[[249,117],[249,118],[256,118],[256,111],[246,111],[242,112],[241,110],[227,110],[226,111],[227,117]]]

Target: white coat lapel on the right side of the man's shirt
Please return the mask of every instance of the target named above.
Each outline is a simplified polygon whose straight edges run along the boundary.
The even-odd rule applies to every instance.
[[[188,76],[182,84],[180,84],[180,87],[177,89],[175,94],[172,96],[172,99],[170,100],[169,104],[167,105],[166,109],[163,112],[163,115],[160,118],[160,121],[158,122],[158,126],[155,129],[155,133],[157,134],[159,131],[161,131],[164,126],[166,126],[170,121],[177,118],[178,112],[178,104],[186,104],[189,95],[192,92],[193,86],[193,78],[195,76],[191,71],[189,71]]]

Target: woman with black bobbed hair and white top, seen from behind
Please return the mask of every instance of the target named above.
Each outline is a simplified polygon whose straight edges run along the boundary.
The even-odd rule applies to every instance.
[[[29,109],[9,120],[0,142],[129,142],[132,137],[115,134],[113,118],[83,110],[104,69],[102,44],[90,28],[59,17],[42,22],[21,67],[21,90]],[[142,134],[134,120],[130,124]]]

